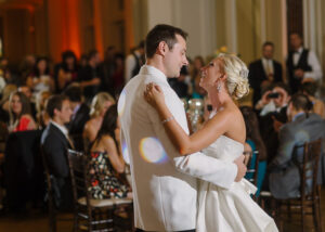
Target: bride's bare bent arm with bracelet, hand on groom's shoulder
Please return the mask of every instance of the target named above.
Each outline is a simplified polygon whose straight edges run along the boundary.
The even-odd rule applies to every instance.
[[[210,145],[226,132],[227,124],[232,119],[232,114],[229,112],[220,112],[207,121],[200,130],[187,136],[177,120],[173,119],[172,114],[165,104],[164,93],[158,86],[148,86],[145,99],[158,112],[170,141],[181,155],[198,152]]]

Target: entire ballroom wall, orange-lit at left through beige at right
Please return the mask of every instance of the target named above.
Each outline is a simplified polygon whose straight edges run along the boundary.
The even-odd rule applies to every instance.
[[[303,2],[304,43],[325,67],[325,3]],[[275,43],[275,59],[287,54],[286,0],[1,0],[3,52],[18,63],[25,54],[49,55],[73,49],[78,55],[115,46],[128,53],[157,23],[190,34],[187,54],[211,56],[225,46],[249,63],[265,40]],[[325,81],[324,81],[325,82]]]

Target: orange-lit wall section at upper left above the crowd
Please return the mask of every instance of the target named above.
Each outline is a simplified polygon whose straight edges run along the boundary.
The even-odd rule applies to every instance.
[[[72,49],[79,56],[115,46],[134,47],[131,0],[1,0],[3,52],[17,65],[29,53],[54,62]]]

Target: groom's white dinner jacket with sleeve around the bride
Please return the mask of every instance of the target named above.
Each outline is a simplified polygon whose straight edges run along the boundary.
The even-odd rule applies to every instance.
[[[202,153],[180,156],[158,114],[144,100],[148,82],[161,87],[174,119],[188,132],[183,103],[164,73],[153,66],[142,66],[140,74],[125,87],[118,102],[121,142],[130,158],[135,227],[145,231],[195,229],[196,178],[230,188],[237,167]]]

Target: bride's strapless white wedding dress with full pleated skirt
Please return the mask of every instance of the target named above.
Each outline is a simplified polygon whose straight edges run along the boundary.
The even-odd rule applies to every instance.
[[[244,151],[242,143],[221,136],[203,152],[218,159],[233,162]],[[198,191],[198,232],[277,231],[274,220],[250,197],[256,186],[243,179],[229,190],[200,181]]]

